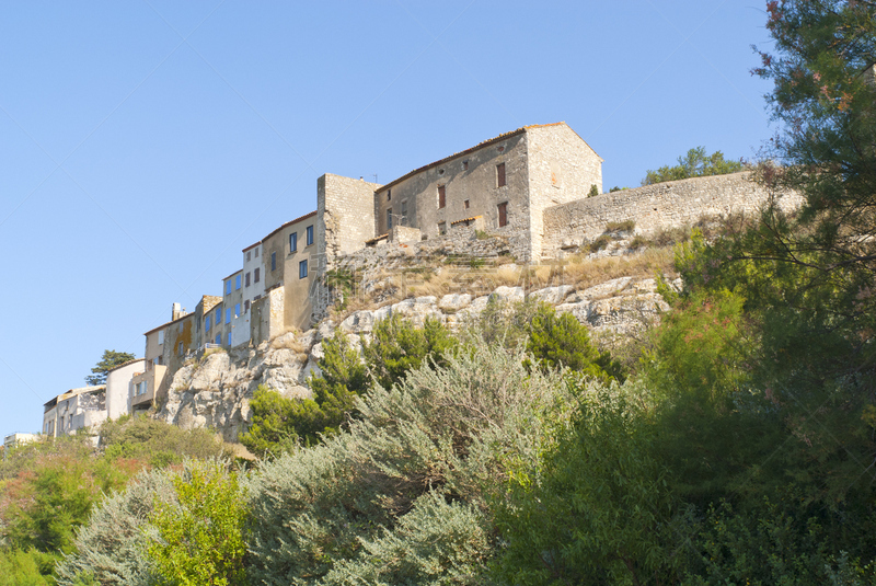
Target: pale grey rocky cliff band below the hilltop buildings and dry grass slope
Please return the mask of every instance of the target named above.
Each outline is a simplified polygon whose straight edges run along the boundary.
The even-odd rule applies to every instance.
[[[670,284],[675,287],[681,283]],[[669,306],[656,292],[654,279],[615,278],[575,291],[569,285],[548,287],[530,294],[572,313],[593,331],[627,335],[645,328]],[[323,342],[336,332],[347,336],[353,348],[370,340],[374,323],[390,315],[403,315],[422,325],[427,318],[458,328],[479,315],[489,301],[519,302],[522,287],[498,287],[488,296],[472,299],[469,294],[405,299],[373,311],[356,311],[335,324],[323,320],[308,332],[289,332],[255,348],[210,354],[177,370],[166,401],[157,418],[183,428],[214,427],[228,441],[237,441],[251,418],[250,400],[260,384],[287,398],[309,398],[308,379],[319,376]]]

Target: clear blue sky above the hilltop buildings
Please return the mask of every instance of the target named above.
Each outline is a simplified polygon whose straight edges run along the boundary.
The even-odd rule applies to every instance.
[[[761,0],[0,2],[0,434],[189,310],[331,172],[565,120],[603,185],[769,138]]]

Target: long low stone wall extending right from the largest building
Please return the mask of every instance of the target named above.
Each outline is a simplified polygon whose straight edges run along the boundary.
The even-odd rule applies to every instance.
[[[562,249],[591,241],[608,222],[634,220],[636,233],[696,222],[703,216],[757,214],[768,200],[765,188],[751,181],[750,172],[695,177],[607,193],[552,206],[544,210],[543,257],[556,257]],[[782,194],[782,209],[803,202],[798,194]]]

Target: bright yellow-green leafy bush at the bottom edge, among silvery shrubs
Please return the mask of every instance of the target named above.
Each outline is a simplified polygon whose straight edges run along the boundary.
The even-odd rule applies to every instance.
[[[243,525],[246,507],[238,479],[219,462],[197,462],[171,479],[176,503],[157,499],[148,555],[163,584],[246,584]]]

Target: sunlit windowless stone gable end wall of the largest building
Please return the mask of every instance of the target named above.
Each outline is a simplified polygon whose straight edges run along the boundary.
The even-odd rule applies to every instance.
[[[602,193],[602,159],[565,123],[527,128],[529,149],[529,258],[542,256],[544,210]]]

